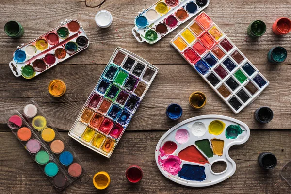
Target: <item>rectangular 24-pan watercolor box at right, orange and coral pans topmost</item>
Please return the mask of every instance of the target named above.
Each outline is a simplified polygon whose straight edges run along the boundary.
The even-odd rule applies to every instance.
[[[204,12],[170,43],[236,114],[269,85]]]

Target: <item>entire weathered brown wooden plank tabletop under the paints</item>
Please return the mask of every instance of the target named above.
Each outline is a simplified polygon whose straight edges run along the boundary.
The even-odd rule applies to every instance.
[[[61,133],[80,157],[88,175],[93,176],[102,170],[110,174],[112,183],[104,193],[290,192],[290,186],[282,180],[279,172],[291,159],[291,132],[283,130],[291,129],[291,57],[283,64],[272,65],[268,64],[266,55],[274,46],[283,46],[291,53],[291,34],[278,37],[271,30],[276,18],[291,17],[291,0],[211,0],[205,9],[270,81],[259,98],[237,115],[169,44],[189,22],[154,45],[138,43],[131,34],[134,17],[156,0],[106,0],[101,7],[96,5],[99,2],[102,0],[91,0],[86,6],[85,0],[0,0],[0,193],[55,193],[15,136],[8,132],[5,118],[34,98],[56,128],[69,130],[117,46],[140,55],[160,71],[112,157],[101,157],[69,138],[67,132]],[[113,15],[113,24],[108,29],[97,28],[95,23],[94,16],[101,9]],[[81,22],[90,39],[89,48],[32,80],[14,77],[8,64],[16,46],[30,42],[71,18]],[[23,25],[25,33],[22,38],[14,40],[4,33],[4,24],[10,19]],[[267,24],[266,34],[257,40],[246,35],[248,24],[255,19]],[[65,96],[49,96],[47,86],[53,79],[65,81]],[[204,92],[208,99],[201,110],[194,110],[188,103],[188,97],[196,90]],[[182,118],[176,122],[165,116],[165,109],[172,102],[181,104],[184,110]],[[253,113],[260,106],[273,109],[274,119],[269,124],[260,125],[254,120]],[[183,187],[159,172],[154,160],[155,147],[166,130],[203,114],[231,116],[251,129],[263,130],[252,130],[244,145],[231,149],[230,156],[237,163],[236,173],[231,178],[203,189]],[[263,151],[271,151],[277,156],[278,166],[273,171],[264,172],[259,168],[257,157]],[[140,165],[144,170],[144,178],[137,185],[129,184],[124,176],[131,164]],[[97,193],[97,190],[90,179],[87,183],[79,180],[64,193]]]

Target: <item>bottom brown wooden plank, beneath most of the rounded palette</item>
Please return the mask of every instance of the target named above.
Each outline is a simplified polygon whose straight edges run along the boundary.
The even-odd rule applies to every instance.
[[[33,162],[27,151],[11,132],[0,133],[0,193],[46,193],[56,191],[49,180]],[[290,186],[281,178],[280,170],[291,158],[291,132],[253,130],[251,137],[243,145],[230,148],[229,155],[236,162],[235,174],[225,181],[207,187],[191,188],[176,184],[165,178],[155,162],[155,148],[164,132],[129,132],[126,131],[110,159],[107,159],[61,132],[70,146],[81,159],[87,174],[91,177],[86,183],[79,179],[65,189],[64,194],[93,194],[97,189],[93,186],[92,177],[98,171],[109,173],[111,183],[104,191],[98,193],[288,193]],[[259,167],[259,152],[270,151],[278,159],[274,170],[264,171]],[[130,184],[126,177],[126,169],[139,165],[144,172],[138,184]]]

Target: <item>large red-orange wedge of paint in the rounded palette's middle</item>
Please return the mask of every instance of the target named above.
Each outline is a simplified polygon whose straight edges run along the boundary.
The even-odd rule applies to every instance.
[[[184,161],[194,162],[198,164],[209,163],[208,160],[198,151],[198,149],[192,145],[186,147],[178,154],[179,158]]]

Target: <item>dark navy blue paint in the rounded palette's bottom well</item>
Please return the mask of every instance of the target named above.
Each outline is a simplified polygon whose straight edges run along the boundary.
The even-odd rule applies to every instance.
[[[206,179],[205,167],[199,165],[183,164],[178,173],[180,178],[185,180],[203,181]]]

